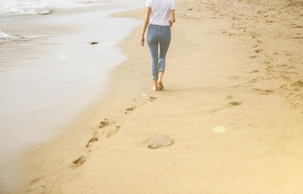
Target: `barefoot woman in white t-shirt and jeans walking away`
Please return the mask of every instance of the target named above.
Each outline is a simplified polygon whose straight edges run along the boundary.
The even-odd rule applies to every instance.
[[[147,44],[151,52],[151,72],[154,86],[157,91],[164,89],[162,79],[166,65],[166,53],[170,44],[170,28],[175,23],[174,0],[147,0],[146,15],[141,33],[141,46],[144,46],[144,34],[147,29]],[[158,51],[160,45],[160,51]]]

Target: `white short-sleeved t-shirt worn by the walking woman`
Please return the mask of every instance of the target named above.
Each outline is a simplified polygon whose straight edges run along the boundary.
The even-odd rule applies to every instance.
[[[170,25],[170,10],[175,9],[174,0],[147,0],[146,5],[152,9],[150,24]]]

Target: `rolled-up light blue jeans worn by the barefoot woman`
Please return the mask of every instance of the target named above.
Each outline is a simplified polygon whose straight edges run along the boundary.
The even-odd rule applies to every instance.
[[[147,32],[147,44],[151,52],[152,80],[158,80],[158,73],[164,73],[166,53],[170,44],[170,26],[150,24]],[[160,45],[160,50],[158,51]]]

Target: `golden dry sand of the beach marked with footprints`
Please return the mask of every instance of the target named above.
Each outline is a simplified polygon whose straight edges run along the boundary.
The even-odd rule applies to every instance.
[[[302,193],[303,2],[175,2],[165,89],[139,26],[106,95],[17,156],[22,183],[4,193]],[[173,144],[149,148],[156,134]]]

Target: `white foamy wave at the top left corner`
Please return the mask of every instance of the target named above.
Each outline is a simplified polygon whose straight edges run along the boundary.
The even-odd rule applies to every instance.
[[[88,6],[92,1],[97,0],[0,0],[0,15],[45,15],[57,9]]]

